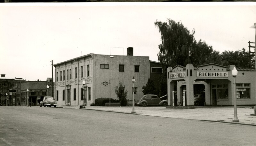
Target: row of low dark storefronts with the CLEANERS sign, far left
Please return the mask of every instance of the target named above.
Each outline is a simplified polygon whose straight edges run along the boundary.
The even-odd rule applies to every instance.
[[[44,96],[52,96],[51,91],[54,90],[52,81],[52,78],[47,78],[47,81],[26,81],[22,78],[5,79],[5,75],[2,75],[0,79],[1,105],[6,105],[6,93],[8,106],[28,106],[29,103],[32,103],[32,106],[39,105]],[[49,85],[49,89],[47,89],[47,85]]]

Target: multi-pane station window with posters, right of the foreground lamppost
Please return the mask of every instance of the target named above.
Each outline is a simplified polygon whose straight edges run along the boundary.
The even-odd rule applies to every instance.
[[[236,84],[236,98],[250,99],[250,84],[237,83]]]

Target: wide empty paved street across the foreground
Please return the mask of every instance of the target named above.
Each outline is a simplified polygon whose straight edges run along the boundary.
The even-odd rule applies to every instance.
[[[1,146],[255,145],[255,126],[50,107],[0,107]]]

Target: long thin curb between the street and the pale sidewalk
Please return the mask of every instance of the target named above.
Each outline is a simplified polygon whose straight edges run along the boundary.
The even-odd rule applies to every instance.
[[[83,109],[83,110],[92,110],[92,111],[104,111],[104,110],[85,109],[85,108],[81,108],[81,109]],[[129,112],[120,112],[120,111],[107,111],[107,112],[116,112],[116,113],[140,115],[138,113],[129,113]],[[141,115],[141,116],[152,116],[152,115]],[[152,117],[161,117],[161,116],[152,116]],[[163,118],[172,118],[172,117],[163,117]],[[183,119],[183,118],[174,118],[174,119]],[[256,124],[245,124],[245,123],[226,122],[226,121],[200,120],[200,119],[187,119],[187,120],[196,120],[196,121],[206,121],[206,122],[218,122],[218,123],[228,123],[228,124],[237,124],[237,125],[256,126]]]

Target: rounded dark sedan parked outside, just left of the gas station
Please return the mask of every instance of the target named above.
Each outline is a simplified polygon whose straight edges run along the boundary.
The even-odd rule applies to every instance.
[[[162,105],[167,106],[167,100],[161,100],[157,95],[144,95],[141,97],[137,105],[147,106],[147,105]]]

